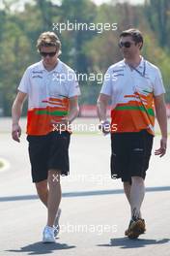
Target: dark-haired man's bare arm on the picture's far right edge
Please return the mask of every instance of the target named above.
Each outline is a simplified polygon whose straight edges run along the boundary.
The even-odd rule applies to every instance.
[[[160,147],[156,149],[155,154],[163,156],[166,152],[167,144],[167,117],[164,94],[155,97],[156,117],[161,131]]]

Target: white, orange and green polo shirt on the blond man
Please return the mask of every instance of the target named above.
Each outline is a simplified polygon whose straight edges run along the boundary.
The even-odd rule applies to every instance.
[[[18,90],[28,94],[27,134],[36,136],[53,131],[53,122],[68,115],[70,98],[80,95],[74,71],[60,60],[50,72],[42,61],[29,66]]]

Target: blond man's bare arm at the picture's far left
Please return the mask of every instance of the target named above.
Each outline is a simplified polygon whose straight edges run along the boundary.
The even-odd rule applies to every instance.
[[[21,128],[19,126],[19,118],[21,116],[23,103],[27,97],[27,93],[23,93],[19,91],[16,95],[16,98],[14,100],[14,104],[12,107],[12,137],[13,140],[16,142],[20,142],[19,137],[21,135]]]

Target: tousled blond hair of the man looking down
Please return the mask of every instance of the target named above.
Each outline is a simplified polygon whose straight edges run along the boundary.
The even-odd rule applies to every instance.
[[[58,36],[50,31],[43,32],[37,41],[38,51],[41,50],[41,47],[56,47],[59,53],[61,53],[61,46]]]

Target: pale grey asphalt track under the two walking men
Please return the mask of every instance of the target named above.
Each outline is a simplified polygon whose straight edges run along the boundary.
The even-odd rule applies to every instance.
[[[9,163],[0,171],[0,255],[170,255],[170,149],[151,159],[142,208],[147,232],[128,240],[129,208],[121,181],[110,178],[109,137],[72,135],[71,176],[62,177],[61,233],[56,244],[42,244],[46,210],[31,183],[25,136],[17,144],[6,131],[0,144],[0,157]]]

